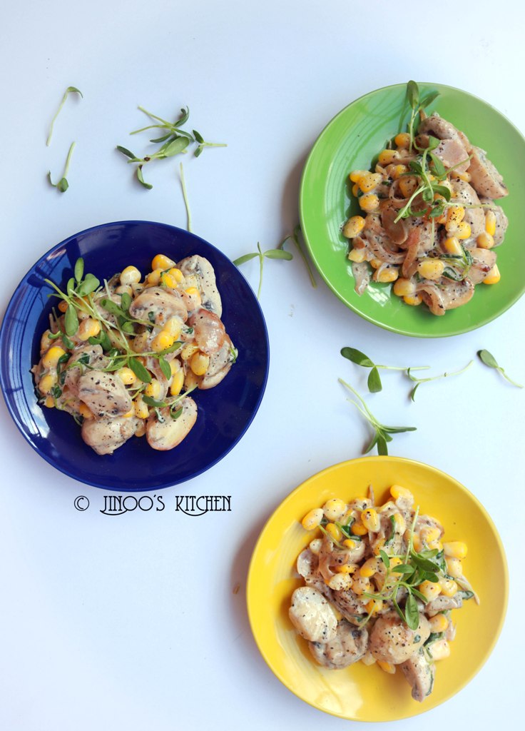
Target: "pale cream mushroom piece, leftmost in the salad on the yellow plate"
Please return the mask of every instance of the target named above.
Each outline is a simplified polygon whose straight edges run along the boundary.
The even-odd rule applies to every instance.
[[[311,642],[329,642],[337,630],[334,610],[317,589],[300,586],[291,595],[288,616],[297,632]]]

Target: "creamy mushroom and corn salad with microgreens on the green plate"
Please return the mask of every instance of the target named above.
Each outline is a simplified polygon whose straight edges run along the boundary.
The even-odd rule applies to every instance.
[[[439,114],[426,115],[437,94],[420,102],[411,81],[407,96],[408,132],[379,153],[373,172],[350,173],[363,215],[351,216],[342,233],[359,295],[370,278],[391,282],[407,305],[423,302],[444,315],[472,299],[476,284],[499,281],[493,249],[508,221],[494,200],[508,191],[484,150]]]

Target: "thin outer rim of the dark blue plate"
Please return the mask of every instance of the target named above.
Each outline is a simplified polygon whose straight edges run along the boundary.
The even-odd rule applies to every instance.
[[[37,267],[39,262],[47,259],[47,257],[50,256],[50,254],[55,253],[55,251],[58,251],[58,249],[61,249],[61,247],[65,248],[70,243],[71,240],[73,240],[77,237],[80,237],[85,234],[95,232],[97,230],[104,229],[104,228],[107,228],[110,226],[122,226],[122,225],[128,225],[128,224],[131,224],[131,225],[147,224],[150,226],[161,227],[161,228],[166,228],[168,230],[175,230],[177,232],[182,232],[183,235],[189,235],[191,238],[195,238],[195,239],[199,240],[199,242],[204,243],[205,246],[209,246],[210,249],[213,249],[214,251],[218,252],[218,254],[221,257],[225,257],[227,260],[229,260],[231,262],[229,257],[223,251],[221,251],[221,249],[218,249],[217,246],[210,243],[209,241],[202,238],[201,236],[193,233],[192,231],[188,231],[179,226],[174,226],[173,224],[166,224],[162,221],[150,221],[147,219],[123,219],[120,221],[106,221],[103,224],[96,224],[96,226],[90,226],[86,229],[83,229],[82,231],[78,231],[72,235],[69,235],[64,240],[61,240],[59,243],[56,243],[54,246],[51,246],[50,249],[47,249],[47,251],[45,251],[43,254],[41,254],[41,256],[37,259],[37,261],[35,261],[30,266],[30,268],[23,275],[22,279],[20,279],[20,281],[18,281],[18,284],[16,284],[15,288],[13,289],[12,295],[9,298],[9,302],[7,303],[7,306],[4,310],[3,317],[1,319],[0,349],[3,351],[7,344],[7,334],[6,334],[7,325],[6,325],[6,323],[9,319],[12,319],[12,309],[15,308],[15,305],[18,303],[18,299],[17,299],[18,289],[20,289],[20,287],[23,284],[27,283],[29,277],[31,276],[31,273],[33,273],[34,269]],[[231,265],[234,266],[233,262],[231,262]],[[250,291],[253,293],[253,289],[251,288],[250,283],[245,278],[244,274],[241,272],[241,270],[239,270],[239,268],[236,268],[236,269],[237,269],[237,272],[239,273],[239,276],[241,276],[242,279],[244,279],[246,284],[248,284],[248,287],[250,287]],[[23,428],[23,423],[20,422],[20,420],[18,419],[18,414],[15,414],[15,412],[13,412],[12,405],[11,405],[9,399],[7,398],[6,387],[9,386],[9,384],[6,379],[6,374],[4,374],[4,368],[0,367],[0,391],[2,394],[2,398],[4,399],[4,404],[7,408],[7,412],[9,413],[9,416],[12,418],[12,421],[17,426],[18,431],[21,433],[21,435],[23,436],[25,441],[29,444],[29,446],[34,450],[34,452],[36,452],[37,455],[39,455],[39,457],[44,459],[54,469],[57,469],[62,474],[66,475],[66,477],[69,477],[70,480],[80,482],[84,485],[90,485],[91,487],[99,488],[101,490],[119,491],[119,492],[126,492],[126,493],[130,493],[130,494],[139,493],[139,492],[149,492],[149,491],[153,491],[153,490],[165,490],[166,488],[172,488],[172,487],[175,487],[176,485],[182,485],[184,482],[188,482],[189,480],[193,480],[193,478],[195,478],[195,477],[199,477],[200,474],[207,471],[208,469],[211,469],[213,466],[215,466],[215,464],[217,464],[224,457],[226,457],[226,455],[228,455],[229,452],[231,452],[231,450],[239,443],[239,441],[248,431],[248,428],[250,428],[250,425],[253,422],[253,419],[256,417],[259,407],[261,406],[261,401],[264,397],[264,393],[266,391],[268,377],[269,377],[269,363],[270,363],[269,336],[268,336],[268,328],[267,328],[267,324],[266,324],[266,319],[264,318],[264,313],[262,311],[261,304],[259,303],[259,301],[256,298],[254,293],[253,293],[253,301],[254,301],[254,303],[256,303],[256,306],[258,307],[258,311],[261,315],[261,323],[263,325],[263,333],[264,333],[264,344],[266,346],[266,351],[267,351],[267,359],[266,359],[267,363],[266,363],[266,368],[265,368],[265,373],[264,373],[264,379],[263,379],[263,382],[261,383],[260,393],[258,394],[258,397],[256,400],[256,405],[253,409],[253,412],[250,414],[250,418],[248,419],[247,423],[245,424],[244,428],[242,429],[242,432],[239,434],[237,439],[235,439],[235,441],[229,445],[228,449],[225,452],[222,452],[221,455],[218,455],[218,457],[215,458],[214,461],[207,463],[206,466],[203,466],[202,469],[199,469],[198,471],[193,472],[193,474],[191,474],[191,477],[185,477],[183,480],[175,480],[175,482],[173,482],[173,481],[165,482],[165,483],[163,482],[162,485],[153,485],[153,487],[148,486],[148,487],[140,487],[140,488],[126,488],[126,490],[124,490],[124,488],[120,488],[120,487],[115,488],[114,486],[108,484],[108,482],[103,482],[101,480],[99,480],[99,481],[86,480],[84,477],[78,476],[77,474],[72,474],[72,472],[68,471],[67,469],[64,469],[64,466],[62,466],[61,464],[55,463],[55,461],[53,461],[53,459],[50,457],[50,455],[47,455],[44,452],[40,451],[38,449],[37,445],[33,444],[33,442],[31,442],[31,439],[29,438],[28,434],[26,433],[26,430]]]

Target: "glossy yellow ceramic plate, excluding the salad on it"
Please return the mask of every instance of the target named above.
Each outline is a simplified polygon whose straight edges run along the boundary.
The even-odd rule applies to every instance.
[[[291,594],[302,584],[295,572],[296,557],[313,538],[299,521],[331,497],[348,501],[366,495],[369,484],[376,499],[383,501],[394,483],[413,491],[421,512],[442,522],[448,540],[467,542],[465,575],[481,600],[478,606],[470,599],[453,613],[457,635],[451,656],[437,663],[434,692],[423,703],[412,700],[410,686],[399,671],[387,675],[377,665],[366,667],[361,662],[345,670],[319,666],[288,619]],[[342,462],[299,485],[264,527],[253,552],[247,589],[253,635],[277,678],[320,711],[352,721],[415,716],[463,688],[491,654],[505,618],[507,593],[505,553],[483,506],[444,472],[397,457]]]

